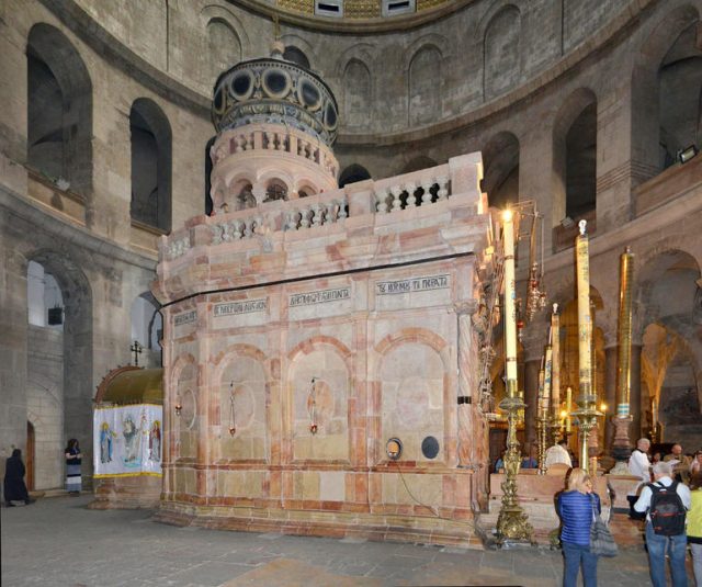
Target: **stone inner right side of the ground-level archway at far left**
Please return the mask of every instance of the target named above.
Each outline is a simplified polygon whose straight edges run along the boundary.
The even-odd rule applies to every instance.
[[[79,264],[53,250],[38,249],[26,256],[44,267],[58,283],[64,300],[63,430],[60,443],[81,439],[88,475],[92,470],[92,399],[93,399],[93,308],[92,287]],[[27,373],[27,379],[31,373]],[[58,381],[56,382],[58,384]],[[61,447],[63,449],[64,447]]]

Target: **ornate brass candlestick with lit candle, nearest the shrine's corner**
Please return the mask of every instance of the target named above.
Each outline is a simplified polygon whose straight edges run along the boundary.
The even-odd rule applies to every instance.
[[[514,224],[512,212],[502,214],[505,251],[505,357],[507,374],[507,397],[500,402],[500,409],[507,411],[507,452],[505,453],[505,475],[502,483],[502,507],[497,519],[497,542],[533,542],[534,530],[526,515],[519,506],[517,497],[517,475],[521,463],[517,420],[525,405],[517,391],[517,314],[514,308]]]

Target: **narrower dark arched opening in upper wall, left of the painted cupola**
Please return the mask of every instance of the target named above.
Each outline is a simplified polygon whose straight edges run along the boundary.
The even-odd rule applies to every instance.
[[[139,98],[129,112],[132,137],[132,219],[171,229],[171,125],[161,109]]]

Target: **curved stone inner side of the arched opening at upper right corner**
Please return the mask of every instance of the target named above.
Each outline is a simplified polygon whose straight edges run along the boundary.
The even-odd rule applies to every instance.
[[[636,162],[634,185],[656,176],[665,165],[660,148],[660,80],[664,59],[681,33],[700,20],[692,4],[663,14],[646,35],[632,69],[632,161]],[[694,92],[699,97],[699,89]]]

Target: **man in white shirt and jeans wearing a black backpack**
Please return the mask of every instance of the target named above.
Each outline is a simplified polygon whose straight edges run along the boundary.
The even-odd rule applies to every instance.
[[[654,483],[646,485],[634,509],[646,512],[646,546],[654,587],[666,587],[666,551],[670,556],[673,587],[687,587],[684,569],[687,535],[686,511],[690,509],[690,489],[672,481],[670,463],[654,465]]]

